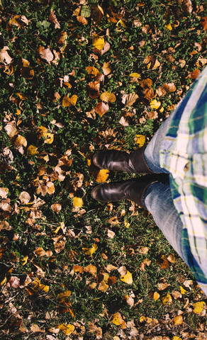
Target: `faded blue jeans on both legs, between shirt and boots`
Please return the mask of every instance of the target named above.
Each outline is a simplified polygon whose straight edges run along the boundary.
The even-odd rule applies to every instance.
[[[167,130],[174,116],[174,112],[169,118],[162,123],[161,127],[155,133],[154,137],[145,149],[145,159],[152,171],[157,173],[166,173],[164,168],[160,167],[160,148]],[[178,215],[170,193],[169,183],[152,183],[145,193],[145,207],[150,211],[156,225],[160,228],[168,242],[175,251],[186,262],[184,250],[181,243],[182,222]]]

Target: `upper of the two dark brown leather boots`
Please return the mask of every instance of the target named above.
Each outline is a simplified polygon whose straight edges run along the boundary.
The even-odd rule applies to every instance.
[[[99,169],[123,171],[128,174],[155,174],[145,160],[145,147],[140,147],[130,154],[117,150],[96,152],[93,162]]]

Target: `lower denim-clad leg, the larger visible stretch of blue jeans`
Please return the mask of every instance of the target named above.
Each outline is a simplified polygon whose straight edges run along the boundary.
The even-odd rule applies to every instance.
[[[169,183],[152,183],[145,192],[144,204],[169,244],[186,262],[181,244],[182,222],[174,207]]]

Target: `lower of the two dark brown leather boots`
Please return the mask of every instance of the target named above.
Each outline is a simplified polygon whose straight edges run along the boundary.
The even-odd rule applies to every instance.
[[[150,174],[122,183],[99,184],[91,191],[91,197],[101,202],[133,200],[140,207],[145,208],[144,197],[148,186],[152,183],[167,181],[169,181],[168,174]]]

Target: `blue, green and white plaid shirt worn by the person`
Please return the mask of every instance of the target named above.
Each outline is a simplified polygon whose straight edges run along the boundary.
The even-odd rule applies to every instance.
[[[207,295],[207,67],[175,109],[160,166],[170,173],[187,264]]]

